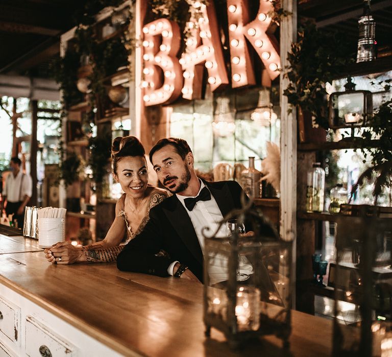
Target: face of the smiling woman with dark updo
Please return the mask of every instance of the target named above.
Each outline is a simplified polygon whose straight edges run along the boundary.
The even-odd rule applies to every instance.
[[[113,174],[121,185],[122,191],[134,198],[142,197],[149,174],[143,156],[127,156],[117,162],[117,175]]]

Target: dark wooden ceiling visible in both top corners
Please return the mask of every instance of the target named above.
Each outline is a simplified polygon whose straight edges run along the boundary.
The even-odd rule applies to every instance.
[[[48,63],[59,55],[60,35],[75,23],[73,14],[96,0],[0,0],[0,74],[47,77]],[[146,1],[146,0],[141,0]],[[298,0],[300,16],[318,27],[344,30],[358,38],[362,0]],[[379,48],[392,47],[392,0],[372,0]]]

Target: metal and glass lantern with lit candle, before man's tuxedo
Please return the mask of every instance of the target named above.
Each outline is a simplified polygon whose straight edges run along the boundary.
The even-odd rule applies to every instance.
[[[246,212],[248,211],[248,212]],[[255,235],[245,237],[228,224],[252,216]],[[275,334],[288,347],[291,307],[291,242],[279,238],[275,228],[249,206],[226,224],[226,236],[205,236],[204,323],[225,334],[237,348],[249,338]],[[220,230],[222,231],[222,230]],[[219,230],[217,231],[219,232]]]

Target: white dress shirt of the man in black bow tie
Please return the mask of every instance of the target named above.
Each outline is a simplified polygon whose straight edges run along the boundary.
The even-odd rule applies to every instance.
[[[205,184],[203,181],[200,181],[200,190],[196,196],[200,194],[200,191],[205,187]],[[208,187],[207,187],[208,189]],[[223,220],[222,213],[219,210],[218,204],[216,203],[216,200],[214,196],[211,194],[211,199],[208,201],[198,201],[196,205],[194,206],[192,211],[189,211],[184,203],[185,198],[188,198],[189,196],[181,196],[179,194],[176,194],[177,198],[179,201],[182,203],[184,206],[186,212],[189,215],[189,218],[192,222],[194,231],[196,232],[196,235],[199,240],[200,247],[202,248],[202,252],[204,254],[204,236],[203,233],[209,237],[213,236],[218,229],[219,222]],[[196,197],[193,196],[193,197]],[[208,227],[209,231],[204,230],[204,227]],[[216,237],[226,237],[226,227],[225,224],[222,224],[219,227],[218,233],[215,235]],[[226,281],[228,279],[228,274],[227,274],[227,259],[226,257],[214,257],[214,265],[210,265],[210,284],[216,284],[219,282]],[[179,263],[178,261],[173,262],[169,265],[167,268],[167,272],[169,275],[173,275],[173,269],[176,263]],[[239,262],[239,267],[240,267],[240,272],[241,273],[246,273],[246,274],[251,274],[252,273],[252,265],[249,264],[246,258],[241,259]]]

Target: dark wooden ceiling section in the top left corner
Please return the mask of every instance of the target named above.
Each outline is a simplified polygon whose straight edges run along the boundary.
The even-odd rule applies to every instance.
[[[83,6],[81,0],[1,0],[0,73],[45,77],[60,35],[74,27],[72,15]]]

